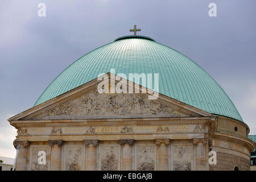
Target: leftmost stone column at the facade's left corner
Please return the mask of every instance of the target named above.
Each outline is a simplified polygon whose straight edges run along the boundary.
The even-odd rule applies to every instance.
[[[27,147],[30,145],[28,141],[18,141],[14,140],[13,145],[15,148],[20,146],[19,154],[16,161],[16,171],[25,171],[27,170]],[[15,166],[14,166],[15,167]]]

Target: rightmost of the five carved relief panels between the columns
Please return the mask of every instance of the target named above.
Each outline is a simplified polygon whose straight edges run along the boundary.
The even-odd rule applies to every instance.
[[[174,144],[172,146],[172,161],[174,171],[191,171],[192,146],[185,144]]]

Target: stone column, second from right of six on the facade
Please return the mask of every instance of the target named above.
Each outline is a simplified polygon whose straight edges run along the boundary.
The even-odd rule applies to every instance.
[[[170,139],[156,139],[158,145],[158,169],[159,171],[168,171],[168,146]]]

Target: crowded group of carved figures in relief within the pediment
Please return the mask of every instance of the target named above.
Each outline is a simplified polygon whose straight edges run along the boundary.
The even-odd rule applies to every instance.
[[[177,111],[136,94],[99,94],[94,90],[85,96],[49,110],[45,115],[93,114],[177,114]]]

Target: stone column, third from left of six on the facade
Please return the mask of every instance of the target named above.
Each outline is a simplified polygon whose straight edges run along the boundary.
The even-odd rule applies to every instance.
[[[96,146],[100,143],[99,140],[84,140],[86,148],[86,171],[96,171]]]

